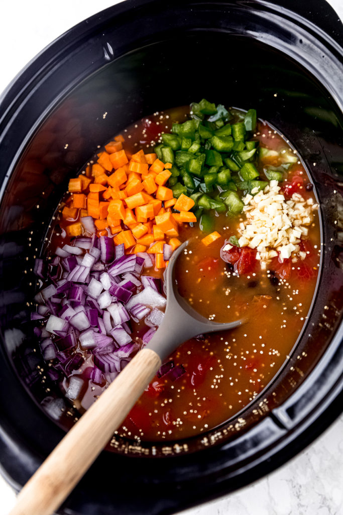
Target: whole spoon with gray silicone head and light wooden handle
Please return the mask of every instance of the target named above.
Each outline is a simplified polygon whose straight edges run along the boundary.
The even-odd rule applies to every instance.
[[[10,515],[50,515],[57,510],[128,415],[161,363],[193,336],[232,329],[242,323],[211,322],[178,294],[174,265],[187,244],[180,246],[169,261],[166,313],[149,345],[135,355],[46,458],[20,492]]]

